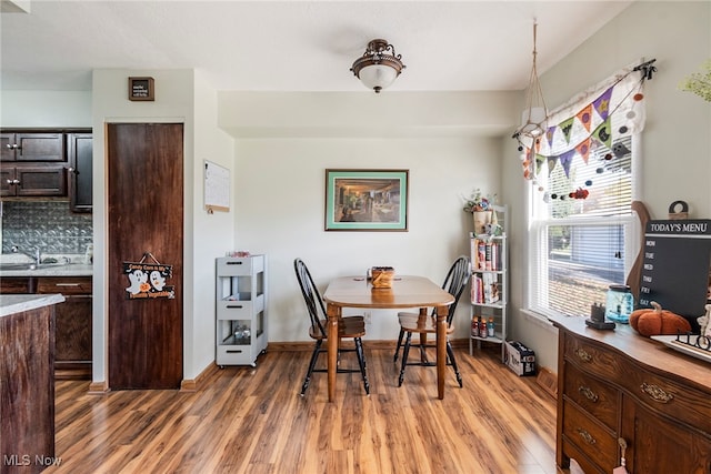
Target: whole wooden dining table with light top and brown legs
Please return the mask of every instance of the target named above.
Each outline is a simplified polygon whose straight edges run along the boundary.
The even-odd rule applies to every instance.
[[[390,288],[374,288],[367,276],[340,276],[332,280],[323,300],[328,316],[328,392],[329,402],[336,400],[336,373],[338,363],[338,324],[343,307],[373,310],[419,309],[424,314],[428,307],[437,315],[437,393],[444,399],[444,374],[447,370],[447,314],[454,296],[437,283],[423,276],[397,275]]]

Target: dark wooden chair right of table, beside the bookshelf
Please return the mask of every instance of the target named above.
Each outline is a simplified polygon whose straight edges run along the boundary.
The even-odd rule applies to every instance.
[[[447,273],[442,289],[454,296],[454,302],[449,306],[449,313],[447,314],[447,364],[454,369],[454,375],[459,386],[463,386],[462,376],[457,367],[457,360],[454,359],[454,351],[449,342],[449,335],[454,332],[454,325],[452,320],[454,319],[454,312],[459,297],[462,295],[469,276],[471,275],[471,262],[467,256],[458,258]],[[402,350],[402,366],[400,369],[400,376],[398,379],[398,386],[402,385],[404,380],[404,369],[408,365],[424,365],[434,366],[435,361],[430,361],[427,356],[427,347],[435,347],[435,343],[428,343],[428,334],[437,333],[437,313],[432,311],[431,314],[427,314],[427,309],[420,309],[419,313],[398,313],[398,321],[400,323],[400,335],[398,336],[398,346],[395,347],[395,354],[393,362],[398,362],[400,347],[402,346],[402,339],[404,337],[404,347]],[[420,342],[412,343],[412,334],[420,334]],[[410,354],[410,347],[420,349],[420,361],[409,362],[408,356]]]

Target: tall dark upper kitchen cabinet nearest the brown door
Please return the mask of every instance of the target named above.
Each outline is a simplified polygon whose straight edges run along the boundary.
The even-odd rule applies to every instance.
[[[67,149],[69,159],[69,206],[72,212],[91,212],[92,134],[67,134]]]

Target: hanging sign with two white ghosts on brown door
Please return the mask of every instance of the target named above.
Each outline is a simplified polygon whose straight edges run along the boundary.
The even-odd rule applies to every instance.
[[[153,259],[156,263],[146,263],[147,256]],[[140,262],[123,262],[123,274],[129,279],[126,297],[128,300],[174,299],[174,286],[166,284],[166,281],[172,278],[172,265],[159,263],[150,252],[143,254]]]

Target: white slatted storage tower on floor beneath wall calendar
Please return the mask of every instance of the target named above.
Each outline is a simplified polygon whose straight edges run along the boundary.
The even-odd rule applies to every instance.
[[[216,363],[257,366],[267,326],[267,255],[217,259]]]

